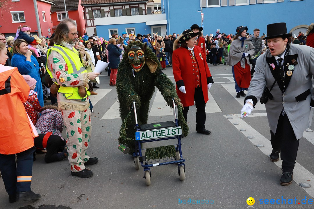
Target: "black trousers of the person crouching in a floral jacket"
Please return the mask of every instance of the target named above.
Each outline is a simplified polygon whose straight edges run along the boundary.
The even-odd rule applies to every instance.
[[[44,136],[45,134],[40,133],[38,137],[34,138],[34,144],[36,148],[43,149],[42,140]],[[62,140],[60,136],[52,134],[47,140],[45,162],[51,163],[64,159],[65,155],[62,153],[62,151],[65,145],[66,141]]]

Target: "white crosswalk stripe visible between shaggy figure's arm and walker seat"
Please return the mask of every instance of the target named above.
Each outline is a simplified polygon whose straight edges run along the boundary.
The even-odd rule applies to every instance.
[[[154,98],[152,108],[150,109],[149,117],[160,115],[173,115],[173,110],[166,105],[164,97],[161,95],[159,89],[157,89],[156,97]]]

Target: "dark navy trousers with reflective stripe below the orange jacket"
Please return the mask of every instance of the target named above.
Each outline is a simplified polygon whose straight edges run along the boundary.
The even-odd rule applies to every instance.
[[[33,152],[35,147],[17,153],[16,165],[15,154],[0,154],[0,171],[8,195],[15,195],[19,191],[30,191]]]

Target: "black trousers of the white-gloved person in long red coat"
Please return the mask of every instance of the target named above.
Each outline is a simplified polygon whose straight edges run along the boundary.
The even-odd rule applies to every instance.
[[[206,121],[206,112],[205,112],[205,100],[203,95],[203,90],[201,87],[195,88],[194,92],[194,100],[195,100],[195,107],[196,107],[196,130],[203,130],[205,128],[205,121]],[[184,107],[183,109],[183,116],[185,121],[187,121],[187,112],[189,111],[190,107]]]

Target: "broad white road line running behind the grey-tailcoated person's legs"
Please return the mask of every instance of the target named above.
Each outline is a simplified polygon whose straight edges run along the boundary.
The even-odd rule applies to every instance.
[[[262,114],[265,114],[265,113],[262,113]],[[252,116],[254,115],[262,116],[262,114],[253,114]],[[225,118],[228,117],[226,115],[224,116]],[[246,131],[240,131],[245,137],[254,136],[254,138],[249,139],[254,145],[263,144],[264,147],[259,147],[258,149],[260,149],[264,154],[268,155],[272,152],[271,142],[267,138],[265,138],[262,134],[258,133],[250,125],[248,125],[246,122],[244,122],[244,120],[240,118],[240,114],[232,115],[232,119],[228,119],[228,120],[230,121],[230,123],[239,123],[239,125],[234,125],[238,130],[240,130],[241,128],[246,129]],[[275,162],[275,164],[279,168],[281,168],[282,161],[279,160]],[[314,180],[314,175],[310,171],[306,170],[298,162],[295,162],[295,169],[293,171],[293,180],[297,184],[299,184],[301,182],[307,182],[306,180],[308,179]],[[310,188],[301,187],[301,188],[305,190],[309,195],[314,196],[314,187],[310,187]]]

